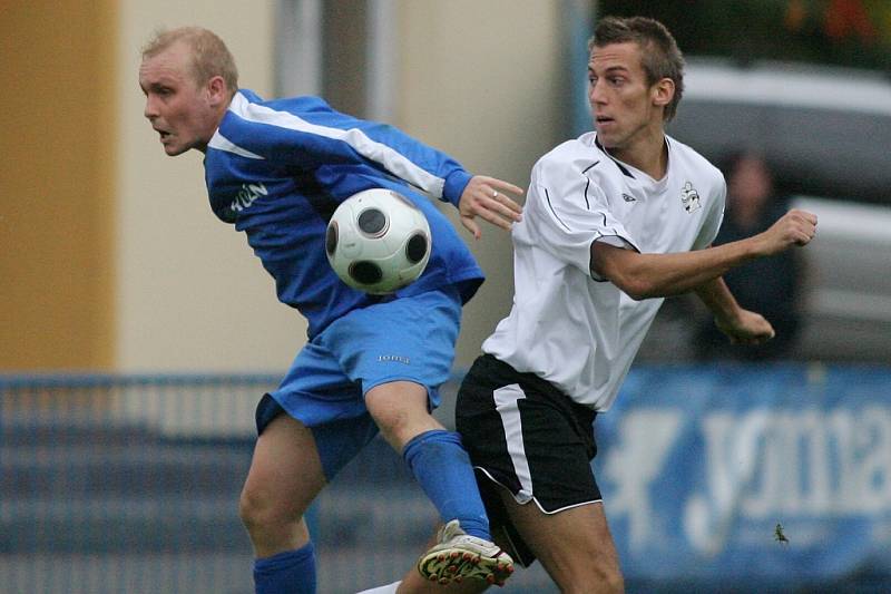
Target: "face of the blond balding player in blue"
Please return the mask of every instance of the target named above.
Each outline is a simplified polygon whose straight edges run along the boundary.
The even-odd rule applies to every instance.
[[[176,42],[143,60],[139,86],[146,96],[145,116],[160,137],[164,152],[182,155],[205,150],[219,124],[207,86],[199,86],[189,69],[189,49]]]

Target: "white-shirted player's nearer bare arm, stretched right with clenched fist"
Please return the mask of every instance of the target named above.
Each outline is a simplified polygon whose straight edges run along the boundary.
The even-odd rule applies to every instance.
[[[594,242],[590,267],[631,299],[670,296],[689,292],[750,260],[806,245],[815,233],[816,215],[793,210],[763,233],[694,252],[642,254]]]

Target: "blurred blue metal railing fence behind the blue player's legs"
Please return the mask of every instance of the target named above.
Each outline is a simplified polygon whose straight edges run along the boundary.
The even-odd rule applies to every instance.
[[[0,376],[0,592],[253,592],[237,502],[254,407],[277,380]],[[310,520],[319,591],[340,594],[398,580],[435,510],[379,438]],[[530,571],[510,591],[548,584]]]

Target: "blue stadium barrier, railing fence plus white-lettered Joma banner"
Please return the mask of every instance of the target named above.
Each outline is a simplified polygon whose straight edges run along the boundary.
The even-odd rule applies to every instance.
[[[0,376],[0,592],[252,592],[237,499],[277,381]],[[891,591],[891,369],[642,366],[596,432],[629,592]],[[311,510],[320,592],[396,580],[435,520],[375,439]]]

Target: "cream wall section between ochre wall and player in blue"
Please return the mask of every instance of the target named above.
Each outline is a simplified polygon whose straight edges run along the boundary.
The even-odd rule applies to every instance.
[[[202,155],[164,154],[138,86],[139,50],[151,33],[199,25],[226,41],[241,84],[268,95],[275,9],[273,0],[120,2],[120,371],[280,370],[305,341],[305,323],[277,302],[244,236],[210,212]]]

